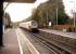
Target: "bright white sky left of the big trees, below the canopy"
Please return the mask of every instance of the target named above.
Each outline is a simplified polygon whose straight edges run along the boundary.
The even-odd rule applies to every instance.
[[[21,22],[31,15],[34,8],[46,1],[48,0],[37,0],[35,3],[10,3],[5,12],[10,14],[12,22]],[[5,6],[7,3],[3,5]]]

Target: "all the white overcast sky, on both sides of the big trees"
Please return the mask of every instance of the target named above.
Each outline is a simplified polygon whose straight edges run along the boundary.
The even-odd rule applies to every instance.
[[[46,1],[48,0],[37,0],[35,3],[10,3],[10,5],[5,9],[5,12],[10,14],[12,22],[21,22],[31,15],[33,9]],[[65,5],[65,12],[69,16],[73,16],[72,10],[74,11],[75,8],[76,11],[76,0],[63,0],[63,3]],[[4,6],[7,3],[4,3]]]

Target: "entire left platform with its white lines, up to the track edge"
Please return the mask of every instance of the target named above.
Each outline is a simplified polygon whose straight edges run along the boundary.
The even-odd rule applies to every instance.
[[[0,54],[54,54],[39,44],[29,33],[20,28],[8,29],[3,33]]]

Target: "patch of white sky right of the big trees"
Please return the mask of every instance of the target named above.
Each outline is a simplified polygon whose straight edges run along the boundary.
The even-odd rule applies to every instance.
[[[76,0],[63,0],[63,4],[65,5],[65,12],[67,15],[73,17],[73,12],[76,12]]]

